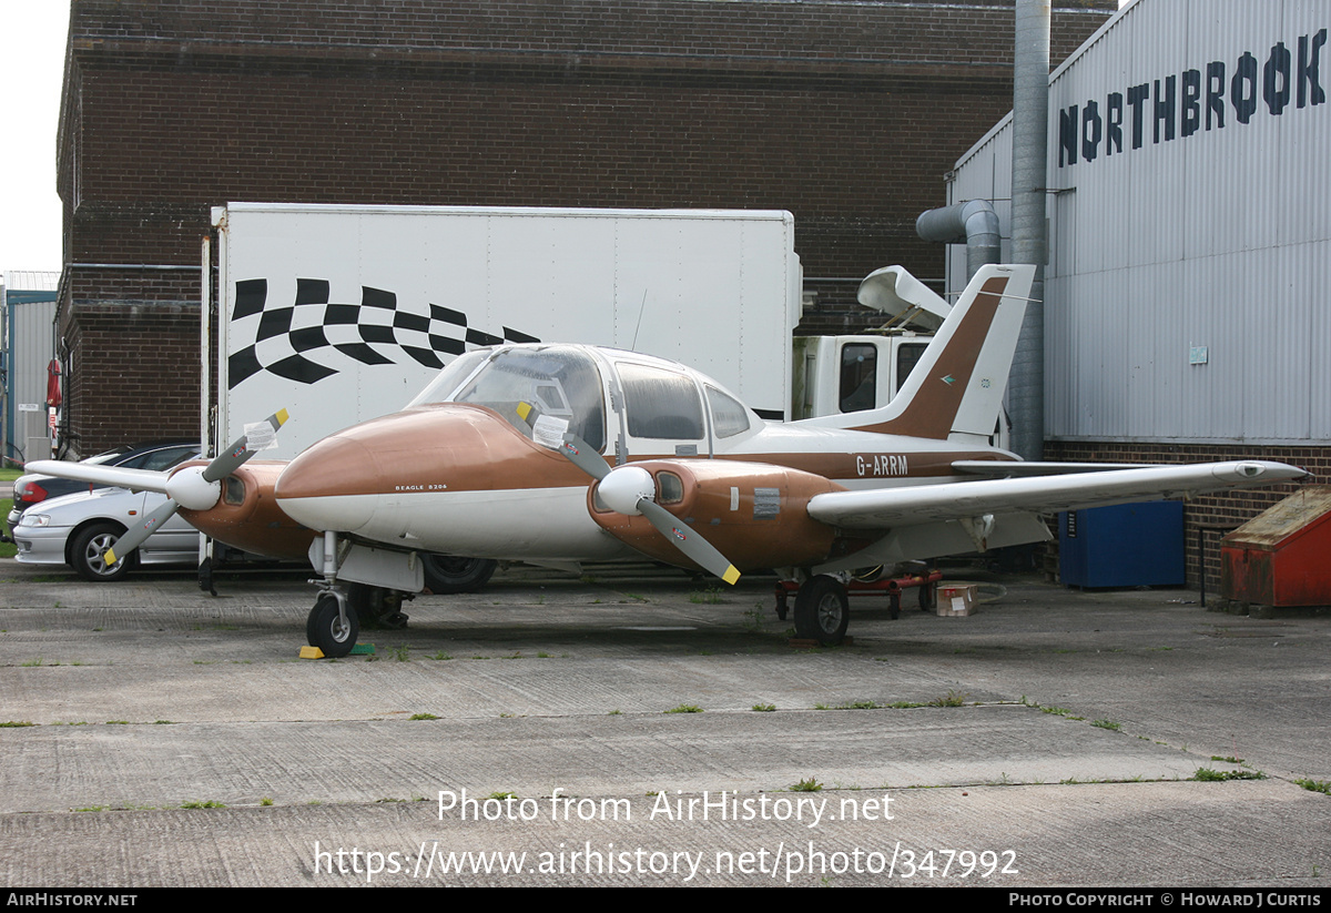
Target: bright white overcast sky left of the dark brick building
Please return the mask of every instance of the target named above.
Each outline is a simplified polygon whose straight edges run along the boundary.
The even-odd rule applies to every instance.
[[[64,80],[69,0],[0,0],[0,270],[53,270],[60,262],[56,120]]]

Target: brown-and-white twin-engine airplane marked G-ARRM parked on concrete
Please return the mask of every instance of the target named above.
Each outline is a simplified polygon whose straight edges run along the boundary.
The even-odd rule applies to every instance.
[[[208,480],[213,507],[193,507],[209,500],[200,494],[182,515],[252,551],[245,504],[315,531],[309,555],[323,582],[306,634],[327,656],[359,634],[346,584],[419,592],[427,554],[555,566],[648,555],[728,583],[777,568],[800,582],[796,631],[831,644],[849,620],[845,571],[1044,540],[1041,514],[1307,475],[1258,460],[1022,463],[994,447],[1033,274],[982,268],[897,397],[872,411],[768,423],[673,362],[496,346],[457,358],[403,411],[285,467],[237,463]]]

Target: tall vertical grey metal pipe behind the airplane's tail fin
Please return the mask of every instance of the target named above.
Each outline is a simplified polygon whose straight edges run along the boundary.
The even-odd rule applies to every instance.
[[[1045,174],[1049,161],[1050,0],[1017,0],[1012,97],[1012,260],[1034,264],[1033,301],[1008,379],[1012,449],[1045,454]]]

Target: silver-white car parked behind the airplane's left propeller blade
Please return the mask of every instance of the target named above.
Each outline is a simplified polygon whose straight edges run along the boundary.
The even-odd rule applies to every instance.
[[[51,498],[24,511],[13,530],[15,556],[31,564],[68,564],[85,580],[118,580],[140,564],[198,564],[198,530],[178,514],[126,558],[108,566],[101,552],[153,512],[166,495],[96,488]]]

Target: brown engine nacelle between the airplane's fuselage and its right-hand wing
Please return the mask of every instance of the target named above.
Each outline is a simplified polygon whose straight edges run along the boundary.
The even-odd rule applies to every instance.
[[[813,495],[843,491],[821,475],[728,459],[660,459],[622,468],[651,474],[654,500],[716,547],[735,567],[805,567],[827,558],[835,531],[808,515]],[[612,472],[614,474],[614,472]],[[644,516],[615,512],[587,494],[596,523],[638,551],[668,564],[689,564]]]

